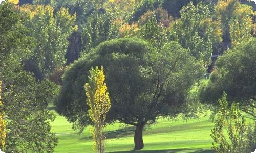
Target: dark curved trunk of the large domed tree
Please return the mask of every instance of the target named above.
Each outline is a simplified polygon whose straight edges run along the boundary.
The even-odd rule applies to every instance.
[[[144,128],[144,124],[142,123],[138,123],[138,125],[136,126],[136,131],[134,134],[134,150],[140,150],[143,149],[144,147],[144,143],[143,143],[143,128]]]

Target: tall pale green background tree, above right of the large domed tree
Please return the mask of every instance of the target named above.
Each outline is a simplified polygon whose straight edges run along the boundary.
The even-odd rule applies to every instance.
[[[212,20],[212,12],[208,5],[199,3],[194,6],[190,2],[181,10],[181,19],[174,24],[173,30],[183,48],[202,61],[207,67],[211,62],[213,45],[220,41],[218,26]]]

